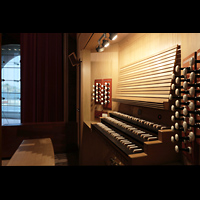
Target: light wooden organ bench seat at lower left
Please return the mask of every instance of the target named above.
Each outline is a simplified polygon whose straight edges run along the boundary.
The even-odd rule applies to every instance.
[[[7,166],[55,166],[51,139],[23,140]]]

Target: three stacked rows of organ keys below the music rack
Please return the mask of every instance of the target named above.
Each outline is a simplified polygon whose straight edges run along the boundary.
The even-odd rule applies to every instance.
[[[101,122],[92,124],[92,128],[126,155],[144,152],[145,142],[157,141],[158,131],[167,129],[166,126],[120,112],[111,112],[109,117],[102,117]]]

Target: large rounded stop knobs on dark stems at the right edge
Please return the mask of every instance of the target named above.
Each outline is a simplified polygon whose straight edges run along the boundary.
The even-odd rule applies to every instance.
[[[174,115],[171,116],[172,122],[175,124],[171,126],[172,131],[182,131],[185,136],[180,136],[181,134],[176,133],[171,137],[171,142],[193,142],[195,140],[195,133],[192,131],[192,128],[200,128],[200,121],[195,119],[196,114],[200,114],[199,110],[196,110],[198,107],[193,101],[196,102],[200,100],[199,96],[196,96],[197,93],[200,93],[200,90],[197,90],[197,87],[200,87],[200,84],[195,83],[197,77],[200,77],[198,73],[200,70],[193,70],[194,58],[190,59],[190,66],[181,68],[179,65],[175,67],[175,73],[172,74],[172,80],[174,83],[171,86],[171,89],[174,90],[175,96],[170,94],[169,99],[176,99],[175,105],[171,106],[171,110],[174,111]],[[179,75],[180,71],[182,71],[183,75]],[[190,74],[188,74],[190,73]],[[177,75],[176,75],[177,74]],[[188,77],[188,78],[187,78]],[[183,78],[183,79],[182,79]],[[181,85],[181,83],[183,83]],[[190,87],[188,89],[188,87]],[[184,89],[184,90],[181,90]],[[182,94],[182,96],[181,96]],[[187,109],[187,106],[189,110]],[[192,116],[194,114],[194,116]],[[187,122],[187,118],[189,118]],[[179,124],[179,121],[183,121],[182,125]],[[187,131],[189,131],[188,134]],[[175,151],[178,153],[180,150],[186,151],[189,154],[192,153],[192,147],[187,146],[186,148],[179,147],[175,145]]]

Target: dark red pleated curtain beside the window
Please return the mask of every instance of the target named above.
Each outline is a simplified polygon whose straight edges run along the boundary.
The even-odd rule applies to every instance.
[[[62,33],[21,33],[21,121],[63,121]]]

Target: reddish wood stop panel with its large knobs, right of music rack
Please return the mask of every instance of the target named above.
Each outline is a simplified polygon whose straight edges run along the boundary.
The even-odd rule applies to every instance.
[[[172,80],[174,94],[169,99],[175,100],[171,106],[174,112],[171,130],[175,135],[171,142],[175,144],[175,152],[181,151],[191,164],[199,164],[200,49],[183,59],[183,67],[175,66]]]

